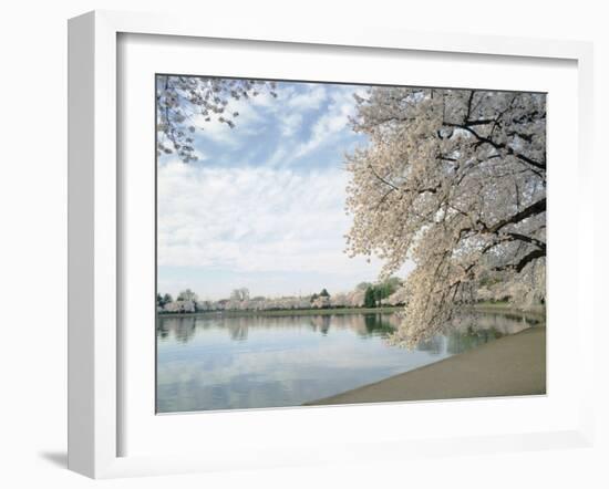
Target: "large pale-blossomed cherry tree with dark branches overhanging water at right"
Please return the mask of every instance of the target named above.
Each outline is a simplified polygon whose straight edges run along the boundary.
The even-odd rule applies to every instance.
[[[545,300],[545,95],[372,87],[355,101],[370,143],[347,156],[348,252],[378,254],[383,277],[415,264],[393,341],[441,331],[482,281]]]

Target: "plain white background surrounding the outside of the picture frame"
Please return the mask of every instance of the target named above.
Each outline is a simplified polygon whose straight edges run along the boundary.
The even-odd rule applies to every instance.
[[[6,2],[0,15],[0,486],[179,487],[608,487],[606,331],[596,342],[596,448],[456,456],[416,462],[281,469],[94,482],[65,470],[66,396],[66,19],[92,9],[272,17],[301,23],[388,25],[425,31],[591,40],[596,45],[597,211],[608,208],[608,15],[602,2],[64,0]],[[607,271],[607,231],[597,233],[597,303]],[[599,324],[601,325],[601,324]],[[592,345],[591,345],[592,347]],[[458,419],[455,419],[458,423]],[[357,429],[357,427],[354,427]],[[321,447],[320,447],[321,448]]]

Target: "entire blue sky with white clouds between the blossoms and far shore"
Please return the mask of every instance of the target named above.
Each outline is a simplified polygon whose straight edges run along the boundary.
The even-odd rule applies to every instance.
[[[278,97],[231,101],[236,127],[202,122],[198,162],[158,160],[158,291],[217,300],[349,291],[380,262],[349,258],[343,155],[353,133],[352,85],[278,83]]]

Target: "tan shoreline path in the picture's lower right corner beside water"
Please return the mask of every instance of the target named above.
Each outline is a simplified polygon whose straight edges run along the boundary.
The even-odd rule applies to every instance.
[[[306,403],[381,403],[546,393],[546,327],[536,326],[374,384]]]

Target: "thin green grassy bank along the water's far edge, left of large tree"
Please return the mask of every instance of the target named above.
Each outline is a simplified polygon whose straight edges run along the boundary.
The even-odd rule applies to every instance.
[[[402,306],[337,308],[337,309],[281,309],[271,311],[202,311],[157,314],[158,318],[244,318],[244,316],[293,316],[293,315],[340,315],[340,314],[388,314]]]

